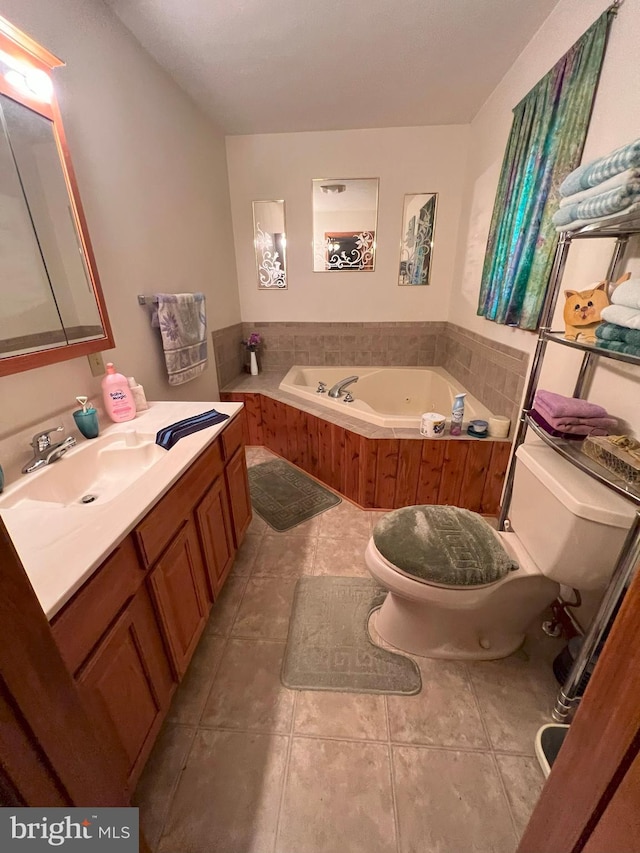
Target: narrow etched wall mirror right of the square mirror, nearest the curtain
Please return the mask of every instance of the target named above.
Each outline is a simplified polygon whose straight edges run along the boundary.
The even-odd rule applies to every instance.
[[[438,193],[404,197],[398,284],[429,284]]]

